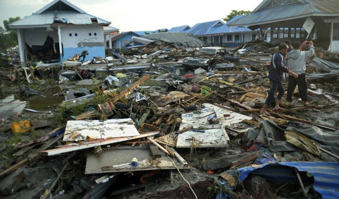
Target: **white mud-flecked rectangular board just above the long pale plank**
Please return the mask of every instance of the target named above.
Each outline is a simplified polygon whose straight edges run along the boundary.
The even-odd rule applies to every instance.
[[[131,118],[107,120],[69,120],[67,121],[63,141],[109,139],[140,135]]]

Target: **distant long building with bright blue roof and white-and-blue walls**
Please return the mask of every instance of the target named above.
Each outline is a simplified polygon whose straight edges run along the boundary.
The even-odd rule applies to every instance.
[[[247,27],[229,27],[228,24],[246,15],[236,16],[227,23],[221,20],[195,24],[185,32],[192,33],[212,46],[237,46],[259,38],[259,30]],[[267,34],[266,34],[267,36]],[[269,38],[264,37],[266,41]]]

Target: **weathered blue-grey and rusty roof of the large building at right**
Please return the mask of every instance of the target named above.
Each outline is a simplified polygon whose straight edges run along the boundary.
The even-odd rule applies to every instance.
[[[338,0],[298,0],[296,3],[265,8],[270,1],[264,0],[251,14],[228,25],[253,26],[309,16],[339,16]]]

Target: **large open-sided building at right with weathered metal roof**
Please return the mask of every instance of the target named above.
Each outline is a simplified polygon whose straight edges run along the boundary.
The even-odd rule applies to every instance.
[[[271,28],[271,43],[306,39],[329,41],[329,51],[339,52],[338,0],[264,0],[251,14],[229,26]]]

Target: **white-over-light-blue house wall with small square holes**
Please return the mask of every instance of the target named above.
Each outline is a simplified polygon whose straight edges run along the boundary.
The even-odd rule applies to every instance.
[[[84,61],[93,57],[105,57],[105,40],[102,25],[67,26],[61,27],[61,40],[63,44],[63,58],[73,58],[87,50],[88,55]]]

